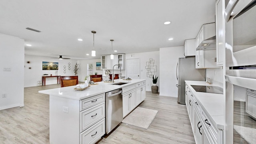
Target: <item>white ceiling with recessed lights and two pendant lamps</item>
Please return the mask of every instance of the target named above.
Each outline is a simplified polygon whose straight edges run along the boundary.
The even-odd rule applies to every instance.
[[[0,33],[25,40],[25,54],[76,60],[183,46],[214,22],[215,0],[1,0]],[[171,24],[164,25],[164,22]],[[33,32],[26,28],[42,32]],[[86,56],[93,49],[96,57]],[[83,41],[78,41],[82,38]],[[168,40],[173,38],[173,40]]]

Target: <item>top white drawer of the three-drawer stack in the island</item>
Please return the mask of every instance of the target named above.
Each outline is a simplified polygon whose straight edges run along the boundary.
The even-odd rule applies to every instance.
[[[105,101],[105,94],[100,94],[97,96],[92,96],[91,98],[86,98],[84,100],[80,100],[80,111],[85,110],[86,108],[90,108],[95,104],[99,104]]]

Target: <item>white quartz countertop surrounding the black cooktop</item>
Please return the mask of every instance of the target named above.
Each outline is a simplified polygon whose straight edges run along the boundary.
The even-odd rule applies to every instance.
[[[224,111],[225,111],[225,96],[223,94],[213,94],[206,92],[196,92],[191,85],[199,86],[218,86],[208,84],[205,81],[190,81],[185,80],[192,94],[198,100],[201,108],[204,110],[210,121],[216,128],[224,130]]]

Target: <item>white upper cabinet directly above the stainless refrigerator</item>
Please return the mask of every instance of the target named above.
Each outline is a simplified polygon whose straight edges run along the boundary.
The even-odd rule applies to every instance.
[[[195,56],[196,55],[196,39],[185,40],[184,43],[184,56]]]

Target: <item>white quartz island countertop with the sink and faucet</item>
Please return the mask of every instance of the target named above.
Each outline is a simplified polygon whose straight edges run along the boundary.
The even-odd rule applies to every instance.
[[[133,80],[123,80],[123,79],[116,79],[114,83],[118,82],[125,82],[127,84],[123,85],[111,85],[112,82],[96,82],[98,85],[90,85],[89,88],[85,90],[74,90],[76,86],[67,86],[63,88],[54,88],[49,90],[40,90],[39,93],[42,94],[49,94],[54,96],[60,96],[64,98],[71,98],[75,100],[82,100],[84,98],[89,98],[91,96],[95,96],[97,94],[102,94],[105,92],[109,92],[112,90],[116,90],[125,86],[129,86],[132,84],[136,84],[138,82],[142,82],[144,79],[133,79]]]

